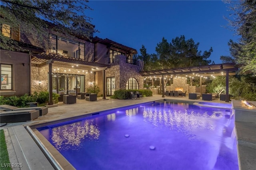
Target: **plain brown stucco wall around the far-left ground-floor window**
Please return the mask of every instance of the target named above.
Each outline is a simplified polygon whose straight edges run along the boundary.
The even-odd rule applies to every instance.
[[[30,65],[28,53],[20,53],[15,51],[1,50],[1,64],[12,64],[13,66],[13,90],[16,91],[14,95],[22,96],[30,92]],[[24,66],[23,66],[24,63]],[[5,86],[2,84],[2,86]]]

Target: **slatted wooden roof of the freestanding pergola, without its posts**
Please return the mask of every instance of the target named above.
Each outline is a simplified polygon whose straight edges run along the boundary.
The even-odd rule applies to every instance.
[[[175,76],[188,76],[200,74],[202,76],[213,75],[223,75],[224,72],[236,72],[238,67],[235,63],[225,63],[225,64],[214,64],[207,66],[196,66],[196,67],[183,67],[183,68],[172,68],[172,69],[162,69],[162,70],[152,70],[152,71],[142,71],[140,74],[144,77],[146,76],[162,76],[162,75],[175,75]]]

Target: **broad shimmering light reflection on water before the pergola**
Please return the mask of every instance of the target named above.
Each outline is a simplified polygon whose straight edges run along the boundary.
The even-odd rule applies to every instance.
[[[214,131],[217,125],[213,120],[222,120],[223,115],[217,111],[213,111],[212,113],[208,113],[208,111],[199,113],[187,109],[182,111],[178,109],[171,110],[144,107],[143,117],[144,121],[148,121],[158,127],[164,125],[170,129],[176,129],[177,131],[191,132],[196,129],[209,129]]]

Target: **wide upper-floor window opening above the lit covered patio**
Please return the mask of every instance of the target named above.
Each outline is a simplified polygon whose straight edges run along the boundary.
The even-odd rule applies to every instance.
[[[84,43],[54,34],[49,35],[49,53],[51,54],[84,59],[84,52]]]

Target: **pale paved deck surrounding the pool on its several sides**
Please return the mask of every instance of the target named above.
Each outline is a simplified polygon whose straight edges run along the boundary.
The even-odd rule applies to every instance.
[[[180,102],[210,102],[210,103],[222,103],[231,104],[231,102],[226,103],[225,101],[213,100],[213,101],[203,101],[199,100],[189,100],[188,97],[165,97],[162,95],[153,95],[152,97],[146,97],[142,99],[134,100],[116,100],[107,98],[108,100],[100,100],[88,102],[86,100],[76,100],[76,104],[63,104],[63,102],[58,103],[58,107],[49,107],[48,113],[42,117],[38,117],[33,121],[20,122],[20,123],[8,123],[7,125],[1,127],[4,129],[6,135],[6,143],[9,152],[9,158],[11,163],[22,163],[23,167],[13,168],[14,170],[25,170],[25,169],[53,169],[50,162],[46,159],[44,153],[40,150],[38,145],[34,142],[32,137],[30,137],[28,131],[24,127],[35,126],[42,123],[48,123],[51,121],[61,121],[63,119],[68,119],[71,117],[79,117],[82,115],[100,112],[108,109],[114,109],[117,107],[125,107],[140,103],[152,102],[156,100],[174,100]],[[256,167],[256,122],[243,122],[236,121],[236,134],[238,140],[238,157],[240,159],[240,170],[255,170]],[[36,132],[35,132],[36,133]],[[47,143],[46,139],[42,139],[40,134],[36,134],[43,140],[43,146],[46,150],[53,150],[52,156],[58,161],[62,162],[61,166],[63,169],[73,169],[72,165],[63,159],[63,157],[52,148],[52,146]],[[36,158],[36,159],[34,159]],[[49,157],[48,157],[49,159]],[[51,158],[50,158],[51,159]],[[52,160],[52,159],[51,159]],[[4,163],[4,162],[3,162]],[[40,168],[39,168],[40,167]],[[55,166],[56,167],[56,166]]]

